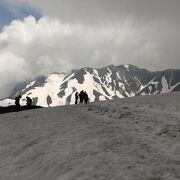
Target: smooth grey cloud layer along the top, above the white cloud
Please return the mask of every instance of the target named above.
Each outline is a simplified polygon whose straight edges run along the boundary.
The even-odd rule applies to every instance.
[[[112,23],[121,19],[178,22],[179,0],[23,0],[41,7],[45,15],[62,21]]]

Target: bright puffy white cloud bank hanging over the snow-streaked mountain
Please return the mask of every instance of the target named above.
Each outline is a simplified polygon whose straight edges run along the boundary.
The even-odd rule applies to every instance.
[[[168,33],[156,36],[156,28],[150,26],[129,19],[114,26],[70,24],[49,17],[36,21],[32,16],[13,21],[0,33],[0,97],[9,95],[17,82],[51,72],[111,63],[150,61],[152,66],[145,67],[156,66],[159,39]]]

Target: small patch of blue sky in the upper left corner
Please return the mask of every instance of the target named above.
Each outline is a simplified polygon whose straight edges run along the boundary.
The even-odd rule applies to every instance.
[[[9,25],[12,20],[24,19],[24,17],[29,15],[39,19],[41,17],[41,12],[39,9],[31,7],[27,3],[0,0],[0,31],[5,25]]]

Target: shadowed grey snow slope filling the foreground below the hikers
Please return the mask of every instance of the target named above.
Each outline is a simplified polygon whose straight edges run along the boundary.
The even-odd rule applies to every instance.
[[[0,115],[0,179],[179,180],[180,93]]]

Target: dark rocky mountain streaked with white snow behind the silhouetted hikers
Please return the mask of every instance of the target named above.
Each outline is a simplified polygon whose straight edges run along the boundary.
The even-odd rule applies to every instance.
[[[109,65],[104,68],[82,68],[71,73],[50,74],[18,85],[11,98],[0,101],[0,106],[14,103],[22,95],[43,107],[74,104],[75,92],[85,90],[91,102],[136,95],[159,94],[180,90],[180,70],[150,72],[132,65]]]

